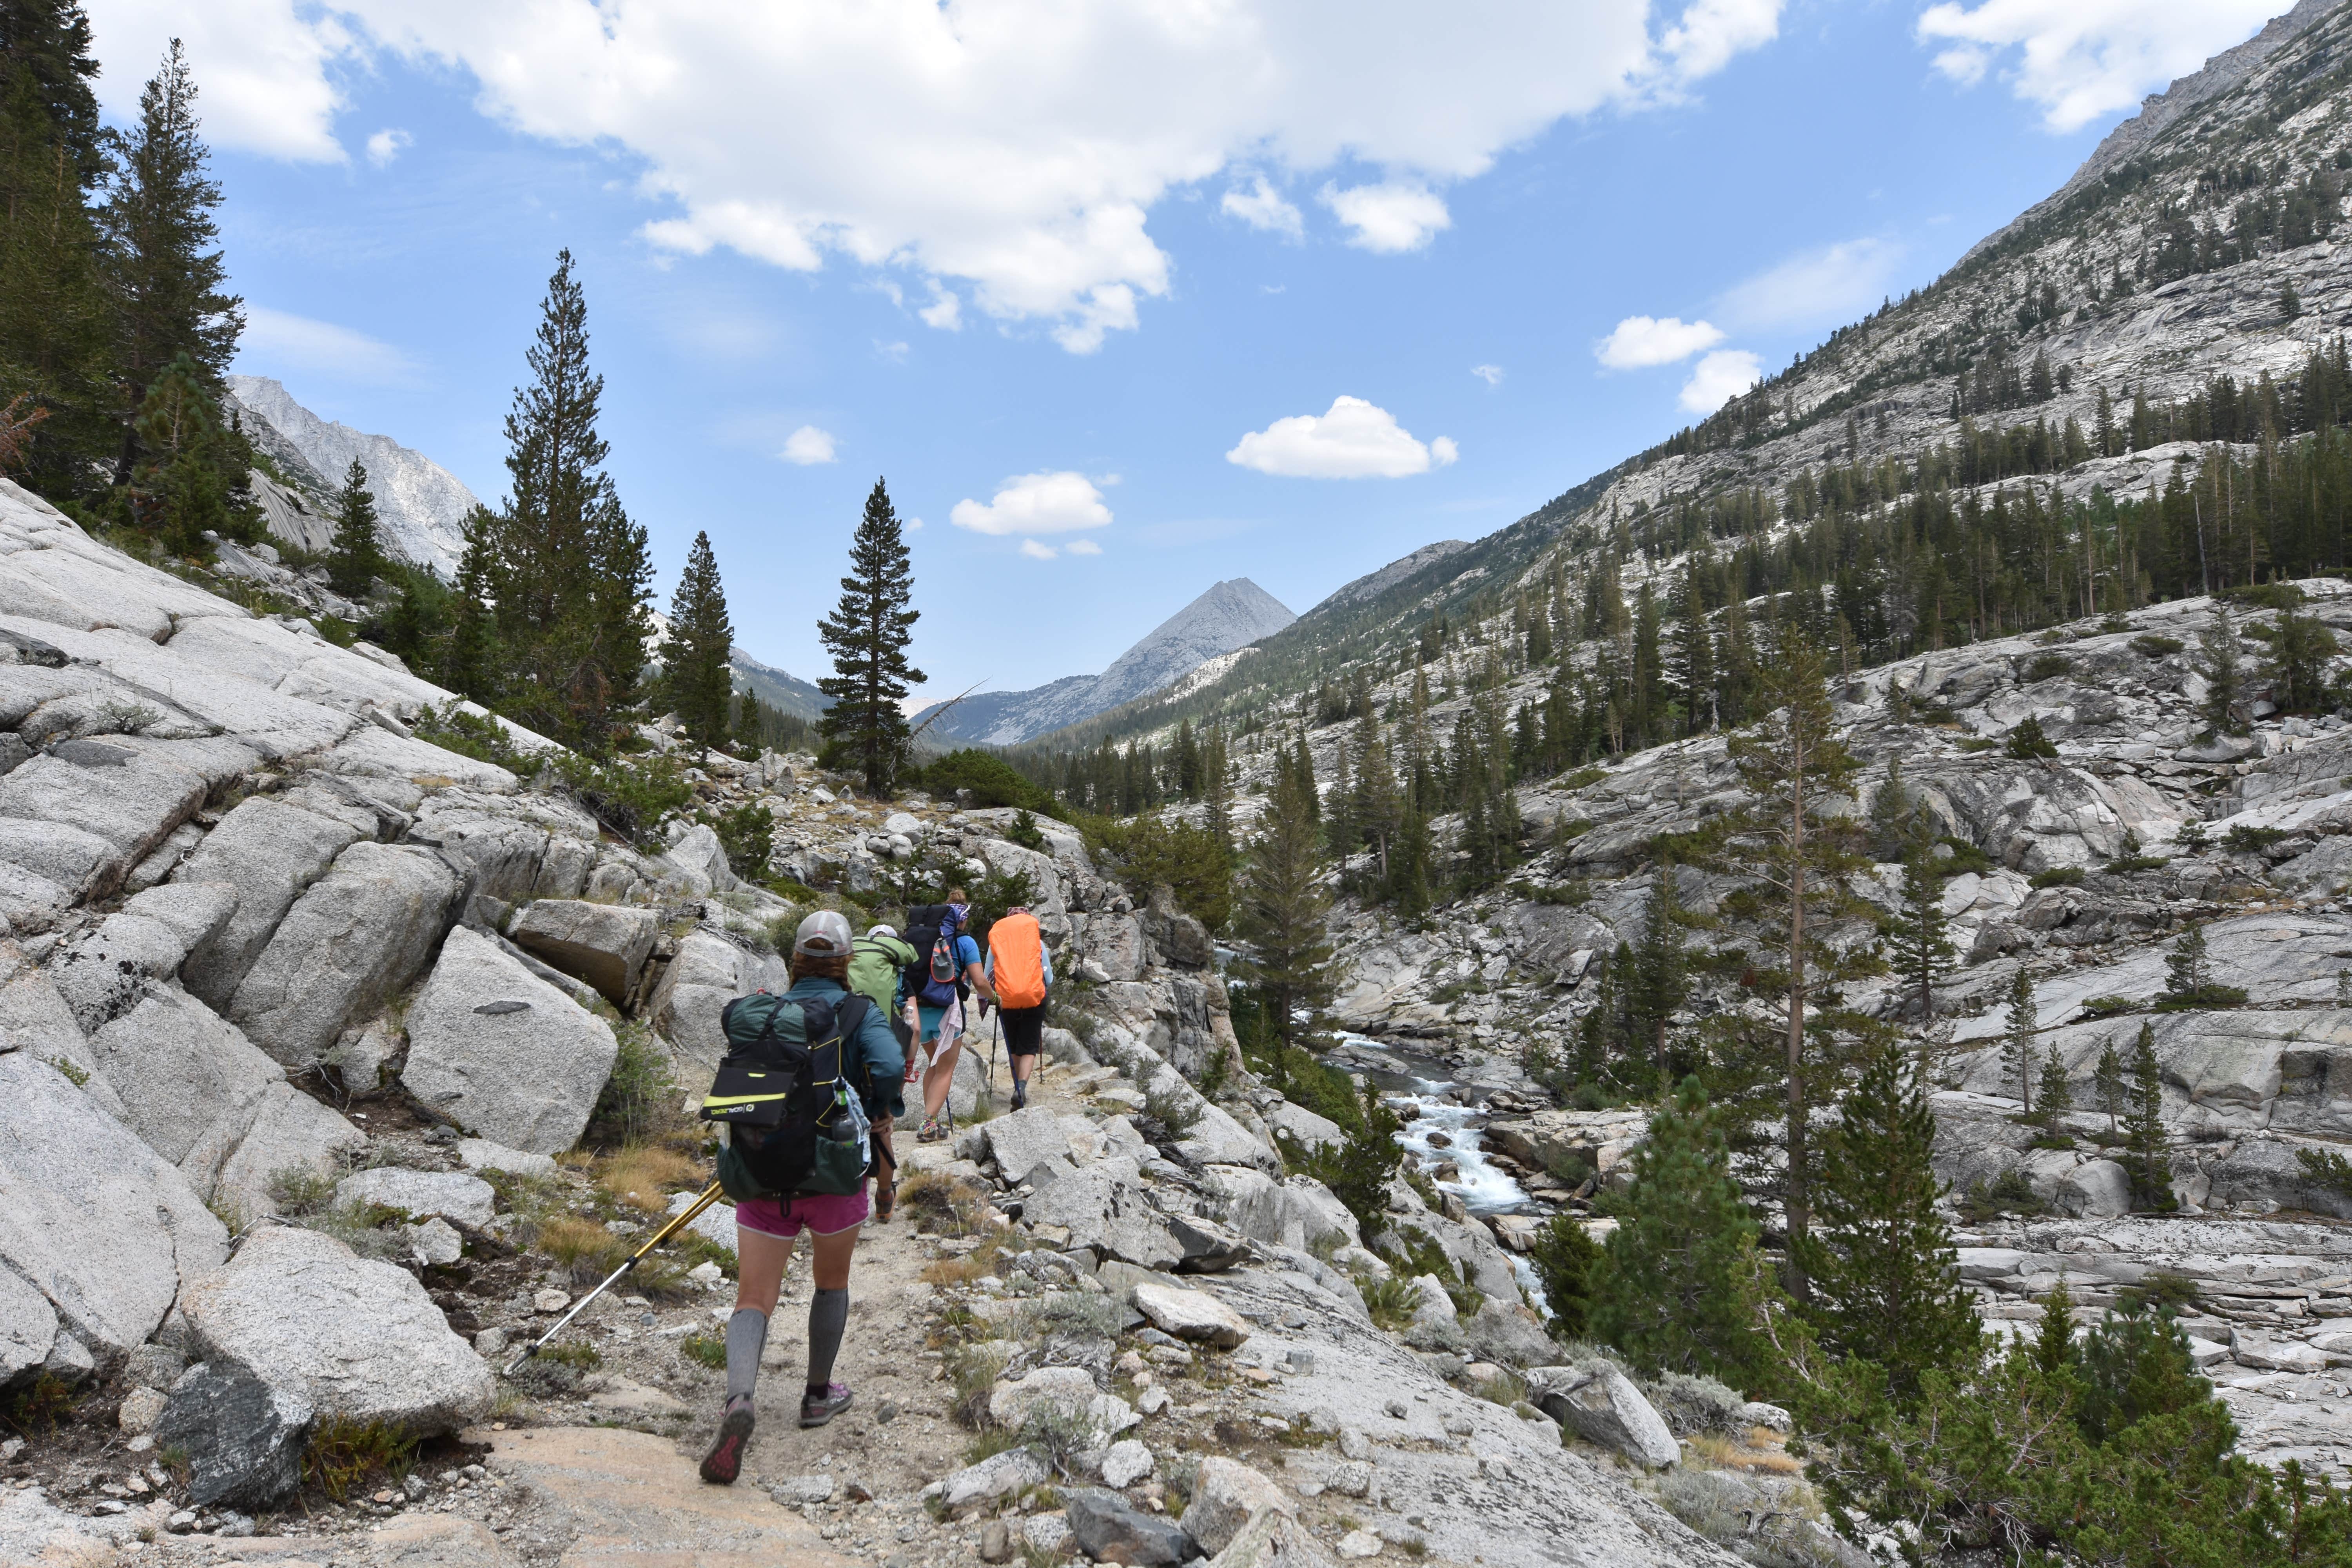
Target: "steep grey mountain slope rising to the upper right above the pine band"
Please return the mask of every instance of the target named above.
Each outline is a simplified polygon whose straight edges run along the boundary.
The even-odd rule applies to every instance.
[[[1432,625],[1508,642],[1526,607],[1557,607],[1562,583],[1573,602],[1604,562],[1616,562],[1628,599],[1644,583],[1670,599],[1693,557],[1738,557],[1748,597],[1792,578],[1835,581],[1837,611],[1865,644],[1926,642],[1938,592],[1957,623],[1947,642],[1969,623],[1978,635],[2004,630],[1985,604],[1987,578],[2011,569],[2056,581],[2082,564],[2126,599],[2145,592],[2133,574],[2171,567],[2178,581],[2178,559],[2131,555],[2112,517],[2098,524],[2105,538],[2053,541],[2027,567],[2004,552],[2039,524],[2006,524],[1999,512],[1980,536],[1994,564],[1971,571],[1966,552],[1952,552],[1950,517],[1973,527],[2002,491],[2006,508],[2027,489],[2042,505],[2100,489],[2154,498],[2176,477],[2192,484],[2216,456],[2277,461],[2277,442],[2305,428],[2277,397],[2293,404],[2312,355],[2352,327],[2352,249],[2340,242],[2352,186],[2347,73],[2352,7],[2303,0],[2152,96],[2060,193],[1931,287],[1830,334],[1700,425],[1486,538],[1428,545],[1352,583],[1214,682],[1131,703],[1047,745],[1084,750],[1103,736],[1164,736],[1178,719],[1294,712],[1324,682],[1395,665]],[[2293,308],[2281,303],[2288,287]],[[2103,407],[2114,428],[2107,454]],[[2187,496],[2180,505],[2190,510]],[[1889,522],[1917,543],[1882,543]],[[2220,550],[2211,505],[2166,527],[2180,538],[2164,548],[2187,552],[2199,585],[2246,581],[2260,567],[2197,555],[2201,536]],[[1931,569],[1938,555],[1943,576]],[[2340,543],[2305,555],[2345,562]],[[2079,599],[2079,585],[2072,592]]]

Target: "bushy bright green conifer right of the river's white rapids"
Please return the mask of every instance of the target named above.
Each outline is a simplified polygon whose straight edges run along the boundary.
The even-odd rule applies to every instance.
[[[1632,1154],[1632,1187],[1592,1269],[1592,1338],[1639,1366],[1743,1385],[1757,1288],[1757,1225],[1731,1180],[1708,1091],[1684,1079]]]

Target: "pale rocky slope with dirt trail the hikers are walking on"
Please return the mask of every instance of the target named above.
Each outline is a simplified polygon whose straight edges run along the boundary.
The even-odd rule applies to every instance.
[[[1729,1537],[1740,1507],[1835,1556],[1783,1413],[1661,1415],[1543,1335],[1461,1204],[1399,1178],[1359,1215],[1284,1175],[1277,1128],[1338,1128],[1240,1070],[1197,922],[1054,825],[873,809],[807,757],[687,778],[769,811],[797,896],[1025,898],[1068,1025],[1037,1098],[1002,1114],[967,1053],[960,1135],[901,1133],[858,1406],[821,1432],[790,1422],[795,1269],[734,1490],[691,1469],[724,1208],[506,1375],[708,1178],[680,1103],[802,905],[708,825],[647,853],[419,738],[449,703],[0,482],[0,1561],[1665,1568],[1733,1561],[1684,1519]]]

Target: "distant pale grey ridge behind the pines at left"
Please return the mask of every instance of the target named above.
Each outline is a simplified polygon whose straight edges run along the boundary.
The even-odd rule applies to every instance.
[[[456,578],[456,557],[466,552],[466,512],[477,503],[454,473],[388,435],[320,418],[268,376],[230,376],[228,402],[254,444],[289,480],[285,487],[268,484],[270,494],[263,496],[270,529],[280,538],[325,550],[334,538],[334,524],[325,515],[343,475],[360,461],[367,465],[367,491],[376,498],[386,552],[442,581]]]

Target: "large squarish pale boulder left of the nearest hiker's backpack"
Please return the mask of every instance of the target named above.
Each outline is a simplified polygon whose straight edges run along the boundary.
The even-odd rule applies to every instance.
[[[409,1006],[400,1081],[468,1133],[560,1154],[579,1143],[619,1053],[612,1025],[461,929]]]

